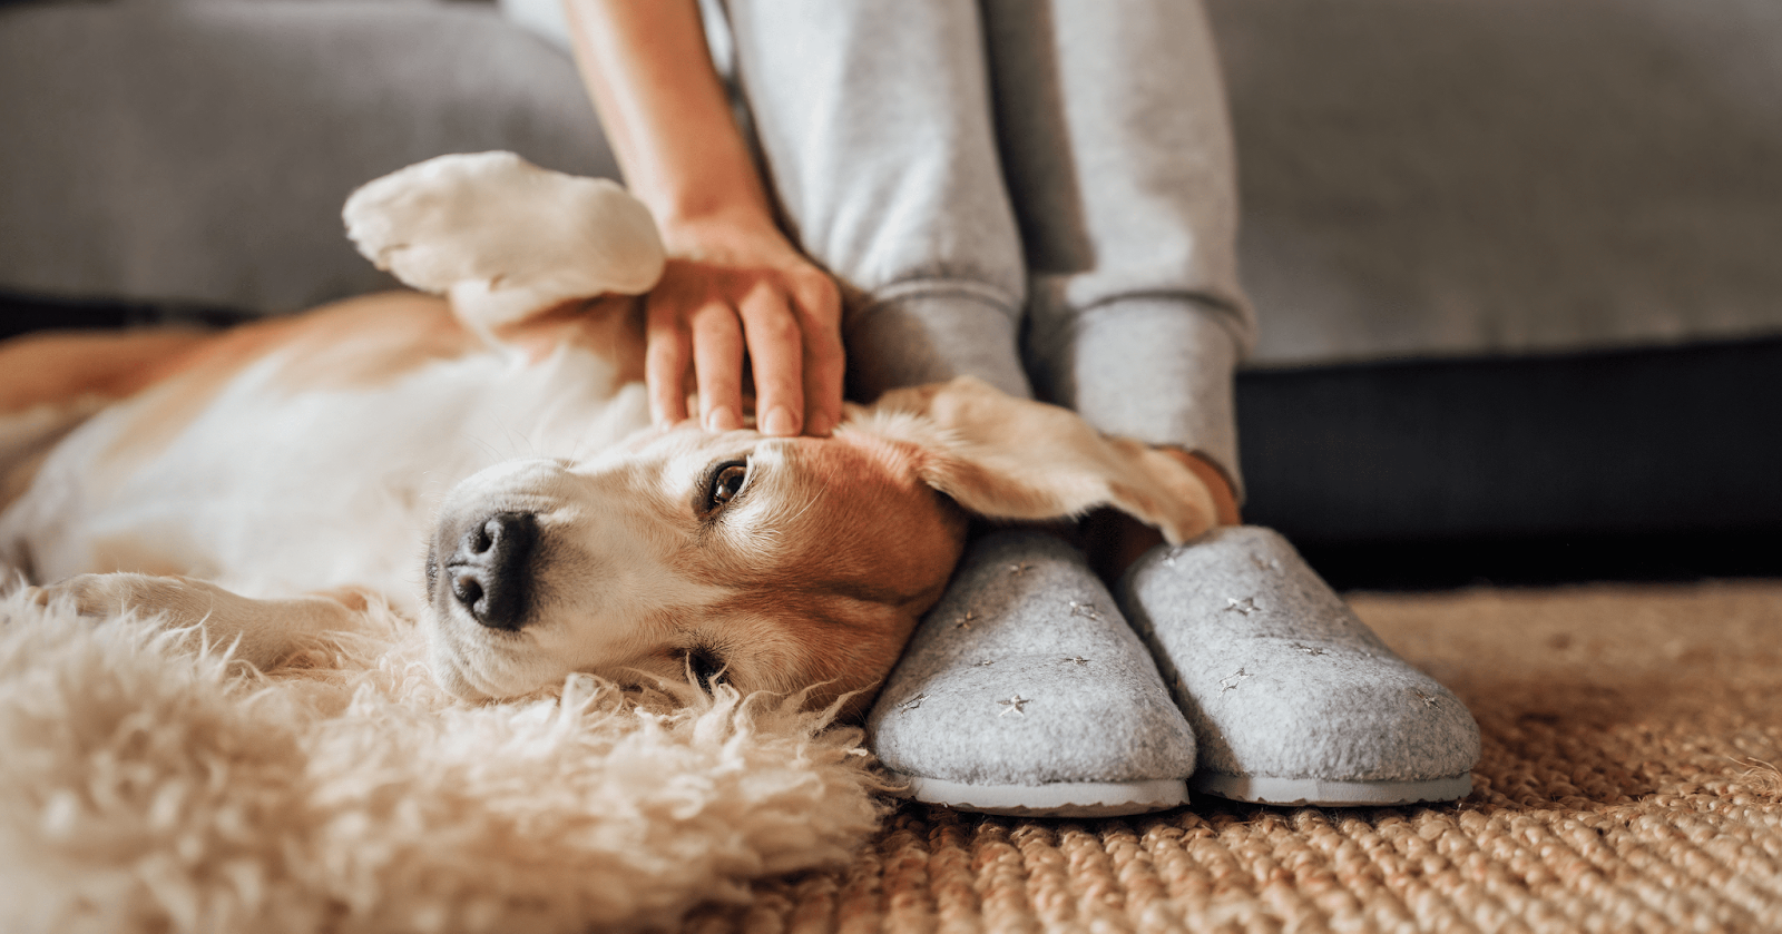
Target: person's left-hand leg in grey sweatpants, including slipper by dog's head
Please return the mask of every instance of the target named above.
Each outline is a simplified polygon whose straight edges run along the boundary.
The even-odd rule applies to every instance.
[[[729,2],[736,80],[798,244],[850,298],[852,390],[971,374],[1026,396],[1026,271],[975,0]],[[975,540],[868,715],[921,800],[1114,815],[1185,800],[1194,736],[1083,556]]]

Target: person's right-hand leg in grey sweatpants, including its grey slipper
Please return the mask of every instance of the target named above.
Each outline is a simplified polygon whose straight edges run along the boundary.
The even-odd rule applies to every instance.
[[[1238,483],[1231,137],[1198,4],[984,0],[1026,246],[1041,397]],[[1246,800],[1465,795],[1465,706],[1386,649],[1278,535],[1157,547],[1117,588],[1201,743],[1192,784]]]

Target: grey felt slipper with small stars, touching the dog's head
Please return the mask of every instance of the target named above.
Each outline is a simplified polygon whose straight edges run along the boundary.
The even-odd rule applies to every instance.
[[[1194,772],[1194,734],[1107,588],[1028,531],[966,549],[866,727],[911,797],[964,811],[1160,811]]]

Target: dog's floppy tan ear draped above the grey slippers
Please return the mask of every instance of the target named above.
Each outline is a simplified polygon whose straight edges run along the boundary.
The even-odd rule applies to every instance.
[[[1206,485],[1169,455],[971,376],[887,392],[857,426],[911,446],[923,481],[989,519],[1046,520],[1114,506],[1171,544],[1214,526]]]

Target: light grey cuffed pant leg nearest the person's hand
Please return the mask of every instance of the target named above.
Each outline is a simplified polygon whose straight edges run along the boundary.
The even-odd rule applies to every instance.
[[[1028,394],[1026,269],[973,0],[729,0],[784,223],[850,294],[850,394],[975,374]]]

